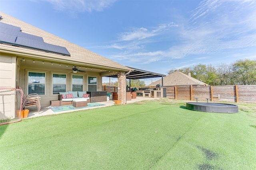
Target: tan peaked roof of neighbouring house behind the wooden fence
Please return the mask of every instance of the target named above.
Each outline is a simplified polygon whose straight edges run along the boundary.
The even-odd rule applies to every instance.
[[[163,78],[164,86],[178,86],[178,85],[200,85],[209,86],[208,84],[201,82],[191,76],[188,76],[182,72],[174,72]],[[162,84],[162,79],[152,82],[148,86],[156,86]]]

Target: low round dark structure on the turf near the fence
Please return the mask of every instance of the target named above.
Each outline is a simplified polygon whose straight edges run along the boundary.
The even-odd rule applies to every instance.
[[[222,103],[187,102],[187,109],[214,113],[238,113],[238,106]]]

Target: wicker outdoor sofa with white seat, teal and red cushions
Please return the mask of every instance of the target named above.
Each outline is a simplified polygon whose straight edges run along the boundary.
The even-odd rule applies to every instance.
[[[58,100],[60,100],[60,106],[72,105],[72,101],[75,101],[75,102],[87,101],[87,103],[90,103],[90,94],[87,94],[87,96],[89,95],[88,97],[84,94],[87,94],[86,91],[60,92],[60,94],[58,95]]]

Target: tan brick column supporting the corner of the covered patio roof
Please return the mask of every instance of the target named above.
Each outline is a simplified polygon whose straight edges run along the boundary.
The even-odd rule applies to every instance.
[[[118,84],[118,100],[121,100],[121,104],[126,103],[126,76],[125,72],[119,72],[117,75]]]

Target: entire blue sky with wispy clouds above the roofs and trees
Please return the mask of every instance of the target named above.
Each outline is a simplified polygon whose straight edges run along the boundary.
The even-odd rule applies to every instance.
[[[256,60],[256,0],[0,0],[0,11],[159,74]]]

